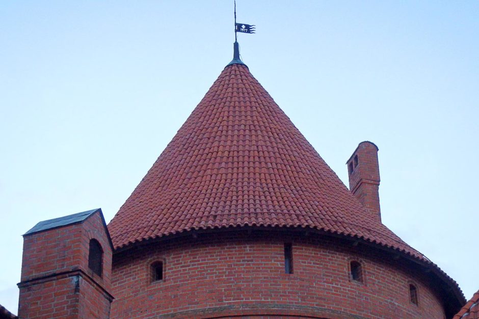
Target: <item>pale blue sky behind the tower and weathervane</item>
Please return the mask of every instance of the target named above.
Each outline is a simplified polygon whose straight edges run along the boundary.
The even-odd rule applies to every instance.
[[[232,1],[0,3],[0,304],[22,237],[109,221],[231,60]],[[341,180],[379,147],[383,223],[477,279],[479,2],[237,1],[243,61]]]

